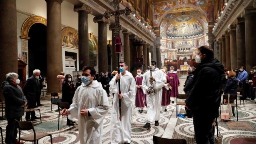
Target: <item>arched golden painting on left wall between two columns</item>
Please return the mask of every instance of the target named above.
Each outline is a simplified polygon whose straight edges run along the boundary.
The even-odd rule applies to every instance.
[[[78,32],[74,28],[62,29],[62,45],[78,48]]]

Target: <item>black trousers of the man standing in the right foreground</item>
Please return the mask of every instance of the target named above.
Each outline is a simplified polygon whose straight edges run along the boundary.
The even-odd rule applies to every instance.
[[[214,118],[211,120],[197,108],[192,109],[195,138],[197,144],[214,144]]]

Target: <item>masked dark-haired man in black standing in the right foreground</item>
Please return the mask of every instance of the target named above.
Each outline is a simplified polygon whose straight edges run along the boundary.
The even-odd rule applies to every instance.
[[[224,73],[224,67],[214,58],[210,46],[198,48],[195,59],[199,65],[193,73],[193,87],[185,106],[192,111],[196,143],[214,144],[212,123],[219,116],[221,75]]]

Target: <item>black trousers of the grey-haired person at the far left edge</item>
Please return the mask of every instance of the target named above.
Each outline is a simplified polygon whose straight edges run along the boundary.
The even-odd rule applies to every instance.
[[[16,142],[18,134],[18,124],[15,120],[20,121],[20,117],[16,118],[7,118],[6,134],[5,134],[5,143],[13,144]]]

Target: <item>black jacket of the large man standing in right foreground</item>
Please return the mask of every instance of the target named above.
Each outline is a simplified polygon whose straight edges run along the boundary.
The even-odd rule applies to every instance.
[[[220,62],[212,58],[202,60],[198,68],[193,72],[193,87],[190,90],[186,104],[205,118],[214,119],[218,116],[221,99],[221,75],[224,67]]]

